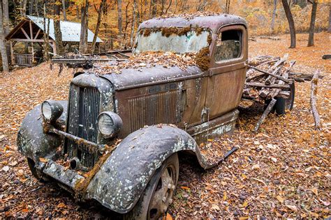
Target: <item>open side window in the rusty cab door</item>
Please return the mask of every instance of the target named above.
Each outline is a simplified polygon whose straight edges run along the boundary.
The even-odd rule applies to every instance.
[[[242,31],[222,31],[216,40],[215,61],[226,61],[242,55]]]

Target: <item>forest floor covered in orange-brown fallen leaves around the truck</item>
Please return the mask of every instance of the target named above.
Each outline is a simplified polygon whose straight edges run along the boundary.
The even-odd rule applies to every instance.
[[[323,129],[314,129],[310,111],[310,82],[295,84],[295,105],[285,116],[270,114],[253,133],[263,108],[240,111],[232,136],[214,144],[237,146],[226,162],[207,171],[189,159],[180,160],[179,183],[168,213],[174,219],[191,218],[322,218],[330,216],[331,35],[317,33],[315,46],[306,47],[307,34],[297,35],[297,48],[281,40],[249,41],[249,56],[273,55],[296,60],[296,72],[321,70],[318,111]],[[54,183],[35,180],[26,159],[15,146],[17,130],[27,111],[43,100],[66,100],[71,70],[57,77],[49,63],[15,70],[0,78],[0,218],[104,218],[110,212],[76,203]]]

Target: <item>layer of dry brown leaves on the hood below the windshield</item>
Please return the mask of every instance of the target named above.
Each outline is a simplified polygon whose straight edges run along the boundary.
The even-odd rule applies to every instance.
[[[120,74],[123,69],[152,68],[162,65],[163,68],[178,66],[186,70],[188,66],[196,65],[196,55],[193,53],[175,54],[172,52],[143,52],[128,58],[128,61],[112,61],[110,63],[99,63],[91,72],[96,74]]]

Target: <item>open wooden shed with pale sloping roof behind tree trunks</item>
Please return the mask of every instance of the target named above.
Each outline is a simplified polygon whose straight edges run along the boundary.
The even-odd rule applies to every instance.
[[[50,21],[50,47],[53,49],[53,53],[56,54],[55,47],[55,34],[54,34],[54,20],[45,19],[45,27],[47,29],[48,20]],[[79,44],[80,42],[80,23],[78,22],[66,22],[61,21],[61,33],[64,46],[68,44]],[[22,21],[17,24],[13,30],[8,33],[6,40],[10,44],[10,63],[12,65],[25,65],[32,66],[38,63],[38,59],[41,57],[36,56],[35,47],[36,44],[42,46],[44,40],[44,18],[27,15]],[[94,33],[88,30],[87,42],[91,43],[94,38]],[[15,53],[14,47],[17,42],[29,43],[31,45],[31,52],[29,53]],[[100,38],[96,38],[96,46],[103,42]]]

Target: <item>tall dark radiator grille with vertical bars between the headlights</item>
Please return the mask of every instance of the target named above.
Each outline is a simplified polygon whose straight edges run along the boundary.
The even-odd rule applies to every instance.
[[[98,129],[96,120],[99,113],[100,93],[96,88],[82,88],[71,86],[68,129],[69,134],[97,143]],[[94,166],[98,154],[96,149],[88,148],[84,144],[77,144],[70,139],[66,140],[66,149],[69,157],[78,157],[83,166]]]

